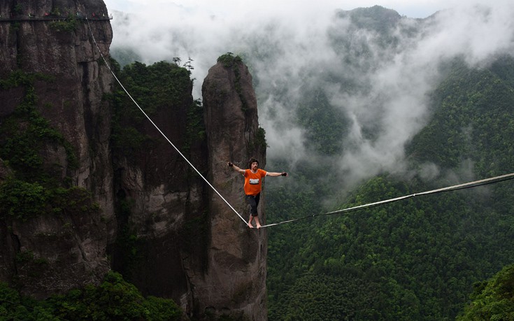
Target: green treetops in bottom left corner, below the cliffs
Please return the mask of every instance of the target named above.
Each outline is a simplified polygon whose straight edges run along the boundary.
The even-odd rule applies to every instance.
[[[71,290],[45,301],[21,296],[0,283],[0,318],[3,320],[180,320],[182,311],[169,299],[143,297],[110,272],[98,285]]]

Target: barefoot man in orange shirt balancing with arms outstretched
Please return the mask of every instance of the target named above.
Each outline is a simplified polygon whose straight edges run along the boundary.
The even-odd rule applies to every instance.
[[[231,162],[228,162],[227,164],[229,167],[234,169],[234,171],[237,171],[238,173],[241,173],[243,176],[245,176],[245,200],[248,204],[250,204],[250,220],[248,220],[248,227],[253,229],[252,220],[255,220],[257,229],[260,229],[261,224],[259,222],[257,206],[259,205],[259,199],[261,197],[262,178],[265,176],[287,176],[287,173],[273,173],[259,169],[259,161],[253,157],[248,161],[248,167],[250,167],[250,169],[240,169],[238,166],[232,164]]]

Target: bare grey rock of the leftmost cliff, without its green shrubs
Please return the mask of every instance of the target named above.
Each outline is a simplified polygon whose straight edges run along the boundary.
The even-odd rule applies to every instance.
[[[62,146],[46,145],[41,150],[45,168],[55,171],[59,180],[67,176],[71,185],[92,192],[91,199],[101,208],[87,215],[51,213],[29,220],[8,216],[0,222],[0,259],[5,263],[0,280],[12,282],[16,276],[22,292],[41,298],[101,280],[109,269],[106,247],[115,234],[110,108],[102,100],[111,90],[112,77],[99,62],[86,21],[77,20],[72,30],[59,29],[52,21],[62,20],[45,15],[57,8],[62,17],[68,12],[106,12],[101,0],[0,3],[0,78],[15,71],[43,76],[29,86],[0,90],[0,117],[12,114],[32,88],[38,113],[63,134],[78,157],[78,168],[71,169]],[[92,21],[91,27],[108,55],[113,36],[109,20]]]

